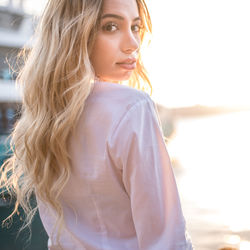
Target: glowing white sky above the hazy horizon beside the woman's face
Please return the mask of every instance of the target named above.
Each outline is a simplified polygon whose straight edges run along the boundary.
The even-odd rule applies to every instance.
[[[39,12],[44,2],[26,6]],[[250,106],[250,1],[147,2],[153,39],[145,64],[153,98],[167,106]]]

